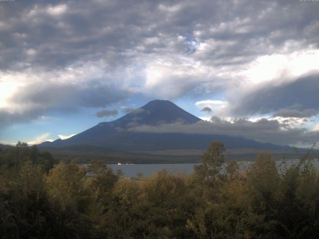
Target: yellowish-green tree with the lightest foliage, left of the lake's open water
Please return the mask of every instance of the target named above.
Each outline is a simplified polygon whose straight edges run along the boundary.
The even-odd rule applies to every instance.
[[[90,238],[92,222],[87,214],[92,200],[91,191],[85,187],[86,170],[72,161],[55,165],[45,176],[50,203],[56,218],[52,229],[56,238]]]

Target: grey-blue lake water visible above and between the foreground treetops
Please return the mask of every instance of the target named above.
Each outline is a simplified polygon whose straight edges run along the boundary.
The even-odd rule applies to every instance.
[[[298,159],[296,160],[287,160],[287,166],[291,166],[293,164],[298,163]],[[251,165],[253,162],[238,162],[241,167],[241,171],[243,171],[246,167]],[[279,165],[281,161],[277,161]],[[314,161],[315,166],[319,169],[319,161]],[[171,173],[185,173],[191,174],[194,171],[194,165],[196,163],[174,163],[174,164],[109,164],[108,166],[113,169],[114,172],[120,169],[124,173],[125,177],[137,177],[137,173],[143,173],[144,177],[151,177],[155,175],[157,172],[162,169],[167,169]]]

